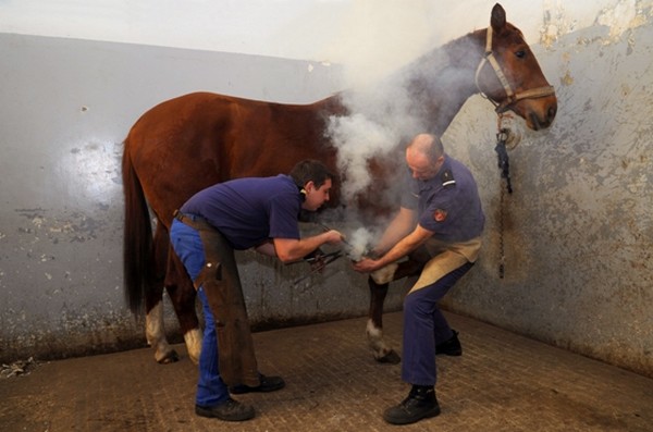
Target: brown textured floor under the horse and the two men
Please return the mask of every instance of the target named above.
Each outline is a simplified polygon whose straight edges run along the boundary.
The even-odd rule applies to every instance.
[[[196,367],[161,366],[150,349],[38,365],[0,379],[0,431],[653,431],[653,380],[447,314],[464,355],[438,357],[442,414],[393,427],[383,410],[408,392],[401,366],[377,363],[365,319],[254,335],[261,372],[286,387],[237,399],[243,423],[194,414]],[[385,317],[401,347],[402,313]]]

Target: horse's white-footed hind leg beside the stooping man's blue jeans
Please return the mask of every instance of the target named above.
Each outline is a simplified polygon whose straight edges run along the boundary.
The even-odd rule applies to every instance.
[[[184,264],[172,247],[169,252],[165,289],[180,321],[180,330],[184,335],[188,357],[194,363],[198,365],[201,353],[202,332],[199,329],[199,320],[197,319],[197,311],[195,309],[197,293]]]

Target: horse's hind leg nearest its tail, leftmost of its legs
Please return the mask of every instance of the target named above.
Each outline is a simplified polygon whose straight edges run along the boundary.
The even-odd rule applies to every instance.
[[[167,274],[169,247],[168,230],[163,227],[163,224],[157,223],[153,239],[156,282],[145,293],[145,337],[148,345],[155,348],[155,359],[162,365],[180,359],[165,338],[163,324],[163,283]]]

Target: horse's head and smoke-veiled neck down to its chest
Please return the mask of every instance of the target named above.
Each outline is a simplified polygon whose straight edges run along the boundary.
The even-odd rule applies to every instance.
[[[557,111],[555,91],[523,35],[506,22],[505,11],[498,3],[494,5],[490,21],[491,26],[486,29],[452,40],[403,66],[374,87],[373,98],[369,99],[372,103],[354,104],[356,108],[352,111],[345,109],[333,114],[340,119],[362,112],[372,124],[392,125],[386,129],[396,134],[389,143],[399,151],[368,159],[365,169],[374,183],[346,199],[366,221],[396,207],[401,188],[395,185],[399,184],[397,177],[405,171],[404,158],[399,156],[403,146],[420,132],[442,135],[471,95],[481,92],[498,113],[515,112],[531,129],[543,129],[552,124]],[[385,92],[384,89],[391,90]],[[348,100],[356,100],[357,95],[345,92],[342,97],[346,104]],[[366,98],[361,100],[369,102]],[[349,137],[358,136],[349,133],[357,123],[344,124],[347,126],[338,131],[338,137],[344,136],[345,145],[340,144],[338,149],[358,144]],[[367,123],[360,126],[364,131],[365,125]],[[345,165],[350,170],[354,164],[347,160]],[[370,214],[366,215],[366,212]]]

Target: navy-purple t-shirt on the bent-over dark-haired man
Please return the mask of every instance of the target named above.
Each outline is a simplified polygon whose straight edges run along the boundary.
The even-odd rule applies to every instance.
[[[180,209],[206,219],[234,249],[270,238],[299,238],[299,189],[289,175],[218,183],[195,194]]]

